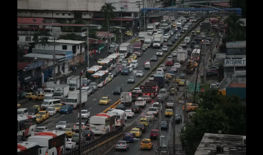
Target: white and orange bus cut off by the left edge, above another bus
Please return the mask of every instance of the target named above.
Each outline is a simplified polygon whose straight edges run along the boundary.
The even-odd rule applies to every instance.
[[[35,115],[17,116],[17,135],[30,136],[32,130],[36,130],[37,120]]]

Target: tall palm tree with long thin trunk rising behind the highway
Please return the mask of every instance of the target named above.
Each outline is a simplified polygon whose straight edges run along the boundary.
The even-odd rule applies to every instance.
[[[115,14],[114,14],[114,10],[116,10],[116,8],[114,6],[112,6],[112,3],[104,3],[104,5],[101,7],[101,12],[102,12],[102,15],[104,17],[104,19],[107,20],[107,27],[108,27],[108,33],[107,33],[107,41],[108,41],[108,44],[107,44],[107,49],[109,51],[109,46],[110,46],[110,40],[109,40],[109,33],[110,33],[110,27],[109,27],[109,22],[110,22],[110,19],[114,18],[115,17]]]

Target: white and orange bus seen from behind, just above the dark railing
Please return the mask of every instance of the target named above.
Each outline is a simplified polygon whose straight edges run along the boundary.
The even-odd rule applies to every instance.
[[[106,134],[115,129],[114,113],[98,113],[90,117],[89,126],[94,134]]]

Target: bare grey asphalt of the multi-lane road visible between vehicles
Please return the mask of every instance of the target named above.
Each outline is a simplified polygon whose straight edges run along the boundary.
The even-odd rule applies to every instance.
[[[193,26],[195,26],[194,23],[191,27],[193,27]],[[189,30],[186,33],[189,33]],[[182,36],[183,35],[184,34],[182,33]],[[195,37],[193,39],[195,39]],[[190,45],[188,45],[188,47],[189,46]],[[169,48],[171,48],[171,47],[169,47]],[[96,115],[97,113],[101,113],[106,108],[110,107],[110,105],[114,104],[114,102],[116,102],[117,100],[120,99],[119,95],[113,95],[112,92],[113,92],[114,88],[116,86],[121,86],[123,88],[124,92],[129,91],[135,84],[127,84],[127,78],[129,76],[135,76],[136,71],[138,71],[138,70],[143,70],[144,75],[147,75],[147,73],[149,73],[149,70],[144,70],[144,62],[146,60],[150,60],[151,56],[155,55],[156,51],[157,51],[157,49],[149,48],[146,52],[144,52],[144,55],[142,57],[138,57],[137,60],[138,60],[139,66],[137,69],[134,69],[132,73],[130,73],[128,76],[119,74],[118,77],[114,77],[110,83],[106,84],[106,86],[99,88],[98,91],[96,91],[93,95],[88,96],[88,102],[85,104],[85,107],[83,109],[89,109],[90,116],[93,116],[93,115]],[[101,55],[99,58],[103,58],[102,56],[103,55]],[[106,57],[106,56],[107,55],[105,55],[104,57]],[[152,67],[155,66],[161,59],[162,58],[159,57],[158,61],[152,62]],[[175,57],[175,61],[176,61],[176,57]],[[91,63],[94,63],[94,62],[91,62]],[[167,66],[167,71],[170,70],[170,68],[171,68],[171,66]],[[181,71],[178,71],[178,73],[175,73],[175,75],[179,76],[180,73],[181,73]],[[191,74],[190,74],[190,76],[191,76]],[[190,77],[190,76],[188,76],[188,77]],[[62,79],[65,79],[65,77],[63,77]],[[141,77],[136,77],[136,83],[139,82],[140,80],[141,80]],[[60,81],[62,82],[62,80],[60,80]],[[180,88],[180,90],[183,90],[183,88]],[[101,97],[104,97],[104,96],[108,96],[110,98],[111,101],[110,101],[109,105],[99,105],[98,104]],[[29,108],[30,106],[35,105],[35,104],[40,105],[41,102],[28,101],[26,104],[23,104],[23,108]],[[132,104],[134,104],[134,103],[132,103]],[[150,104],[147,104],[146,108],[148,108],[149,106],[150,106]],[[181,107],[181,105],[179,107]],[[127,107],[127,108],[129,108],[129,107]],[[142,109],[142,112],[143,111],[144,111],[144,109]],[[180,113],[180,112],[178,111],[178,113]],[[48,124],[46,124],[45,126],[48,126],[48,128],[51,130],[54,130],[56,124],[59,121],[68,121],[70,123],[70,127],[73,127],[75,125],[75,123],[78,122],[78,119],[76,118],[77,114],[78,114],[78,109],[74,110],[73,113],[69,113],[69,114],[57,114],[53,117],[50,117],[49,119],[52,119],[52,121],[50,120],[50,122]],[[138,116],[140,116],[140,114],[135,114],[135,117],[133,117],[132,119],[128,119],[128,121],[126,122],[127,123],[126,125],[129,125]],[[85,121],[85,119],[83,119],[83,121]]]

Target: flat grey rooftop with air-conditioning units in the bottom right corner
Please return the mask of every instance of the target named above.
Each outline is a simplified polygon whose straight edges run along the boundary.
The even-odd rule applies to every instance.
[[[246,155],[246,145],[243,145],[243,135],[222,135],[205,133],[195,155],[212,155],[208,153],[214,151],[214,145],[223,145],[222,155]]]

